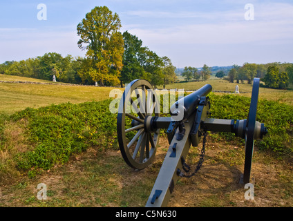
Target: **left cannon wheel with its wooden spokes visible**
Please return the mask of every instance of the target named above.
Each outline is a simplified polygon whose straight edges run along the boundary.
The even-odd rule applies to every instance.
[[[144,128],[147,116],[160,117],[160,101],[149,81],[136,79],[126,86],[117,114],[120,151],[125,162],[134,169],[144,169],[151,164],[158,147],[160,128],[147,131]]]

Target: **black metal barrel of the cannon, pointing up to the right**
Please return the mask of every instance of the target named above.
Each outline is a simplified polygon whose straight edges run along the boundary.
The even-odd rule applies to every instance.
[[[200,102],[200,97],[208,95],[211,92],[211,89],[211,85],[206,84],[193,93],[182,97],[175,102],[170,108],[170,113],[173,116],[173,119],[176,121],[188,119],[190,115],[196,111],[198,103]]]

